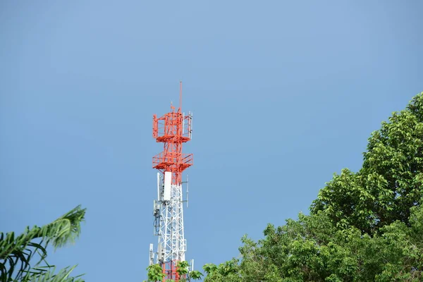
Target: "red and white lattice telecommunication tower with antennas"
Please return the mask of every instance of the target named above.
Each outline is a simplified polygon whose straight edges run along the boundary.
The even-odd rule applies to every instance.
[[[160,264],[166,275],[163,281],[181,277],[176,272],[176,264],[185,261],[187,243],[183,231],[182,173],[192,166],[192,154],[184,154],[182,145],[191,140],[192,113],[185,116],[182,112],[182,82],[180,82],[179,108],[171,103],[171,111],[160,118],[153,116],[153,137],[162,142],[163,152],[153,157],[153,168],[157,173],[157,200],[153,202],[154,235],[159,236],[157,252],[153,244],[149,247],[149,264]],[[193,267],[193,261],[191,268]]]

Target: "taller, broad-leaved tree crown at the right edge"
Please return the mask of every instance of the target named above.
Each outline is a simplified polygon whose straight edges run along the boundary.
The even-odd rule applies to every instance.
[[[408,225],[423,195],[423,92],[369,138],[358,173],[335,174],[313,202],[338,226],[373,234],[394,221]]]

